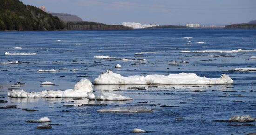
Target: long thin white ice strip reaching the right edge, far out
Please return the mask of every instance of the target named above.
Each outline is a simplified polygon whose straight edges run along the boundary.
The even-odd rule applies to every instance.
[[[256,49],[253,50],[202,50],[202,51],[181,51],[181,53],[238,53],[238,52],[256,52]]]

